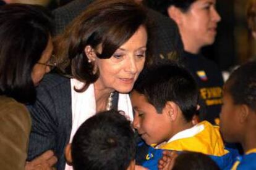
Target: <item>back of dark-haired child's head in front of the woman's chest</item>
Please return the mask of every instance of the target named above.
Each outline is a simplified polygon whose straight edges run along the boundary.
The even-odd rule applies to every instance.
[[[80,169],[127,169],[135,159],[134,131],[122,111],[103,111],[87,119],[71,144],[72,164]]]

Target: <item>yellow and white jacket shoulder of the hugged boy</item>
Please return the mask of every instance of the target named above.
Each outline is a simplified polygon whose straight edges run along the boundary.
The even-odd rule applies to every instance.
[[[202,121],[190,129],[177,133],[161,148],[177,151],[188,150],[215,156],[227,153],[224,150],[224,143],[218,127],[208,121]]]

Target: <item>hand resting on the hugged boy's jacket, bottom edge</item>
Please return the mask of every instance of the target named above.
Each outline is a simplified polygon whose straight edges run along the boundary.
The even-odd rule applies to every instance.
[[[170,170],[173,169],[175,158],[178,156],[176,151],[164,150],[163,157],[158,161],[158,169]]]

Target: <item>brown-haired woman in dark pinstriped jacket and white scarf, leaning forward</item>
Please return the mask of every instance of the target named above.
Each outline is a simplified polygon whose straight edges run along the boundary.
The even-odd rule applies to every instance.
[[[148,62],[148,23],[142,6],[130,0],[98,0],[56,38],[59,68],[49,74],[28,105],[32,134],[28,158],[53,149],[57,169],[77,128],[98,111],[116,109],[132,121],[129,92]],[[147,57],[146,57],[147,56]]]

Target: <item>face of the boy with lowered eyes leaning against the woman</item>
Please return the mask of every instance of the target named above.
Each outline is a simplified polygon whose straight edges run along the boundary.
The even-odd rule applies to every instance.
[[[169,140],[172,128],[168,113],[157,113],[145,96],[136,91],[132,91],[132,107],[135,111],[133,126],[148,145]]]

